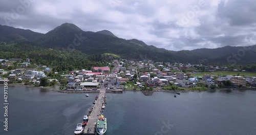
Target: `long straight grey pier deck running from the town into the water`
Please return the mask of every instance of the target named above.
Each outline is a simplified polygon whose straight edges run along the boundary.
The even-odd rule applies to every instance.
[[[103,98],[105,96],[105,90],[100,90],[99,96],[94,104],[93,110],[91,115],[88,117],[88,123],[86,128],[83,130],[83,134],[89,135],[89,134],[97,134],[96,133],[96,123],[99,119],[99,114],[101,110],[101,106],[103,101]]]

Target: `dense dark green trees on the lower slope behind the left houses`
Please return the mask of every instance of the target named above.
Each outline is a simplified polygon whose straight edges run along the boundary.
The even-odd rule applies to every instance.
[[[53,72],[91,70],[92,66],[104,66],[109,61],[104,55],[88,56],[77,50],[47,49],[31,46],[29,43],[0,43],[0,48],[0,58],[30,58],[33,64],[47,65]],[[17,66],[17,63],[14,64]],[[9,66],[9,70],[11,69],[13,67]]]

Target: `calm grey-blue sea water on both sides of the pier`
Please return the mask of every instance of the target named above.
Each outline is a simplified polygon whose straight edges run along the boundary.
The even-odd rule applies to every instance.
[[[3,106],[3,86],[0,86]],[[97,94],[9,87],[9,128],[0,134],[74,134]],[[106,94],[110,134],[256,134],[256,91]]]

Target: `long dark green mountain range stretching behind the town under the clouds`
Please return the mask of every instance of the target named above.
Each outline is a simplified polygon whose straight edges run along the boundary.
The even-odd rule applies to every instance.
[[[243,50],[243,47],[226,46],[217,49],[169,51],[152,45],[148,46],[138,39],[118,38],[107,30],[85,32],[74,24],[68,23],[62,24],[46,34],[0,26],[0,28],[3,27],[5,31],[0,31],[0,40],[2,41],[6,41],[6,39],[8,39],[7,41],[25,40],[30,41],[34,46],[52,49],[75,49],[87,55],[113,54],[127,59],[186,63],[233,63],[234,57],[232,54],[238,54],[239,51]],[[9,33],[9,29],[13,31]],[[34,37],[27,36],[29,34],[34,34]],[[251,46],[251,50],[245,51],[243,57],[235,58],[236,63],[255,63],[255,49],[256,46]]]

